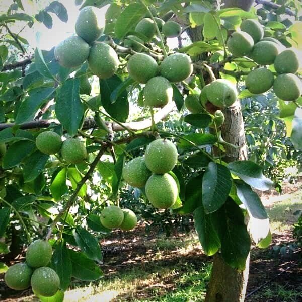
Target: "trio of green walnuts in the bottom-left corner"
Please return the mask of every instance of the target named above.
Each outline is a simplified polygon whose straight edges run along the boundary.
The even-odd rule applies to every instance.
[[[51,245],[44,240],[35,240],[27,249],[26,262],[9,267],[4,276],[5,283],[15,290],[31,286],[34,293],[43,297],[55,295],[60,286],[60,278],[52,268],[46,266],[51,256]]]

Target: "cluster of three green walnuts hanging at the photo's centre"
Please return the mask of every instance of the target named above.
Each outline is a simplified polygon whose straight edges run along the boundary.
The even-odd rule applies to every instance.
[[[150,143],[143,157],[129,161],[124,170],[125,181],[138,188],[145,188],[145,193],[152,205],[167,209],[175,203],[178,187],[169,172],[177,163],[177,149],[167,139],[156,139]]]

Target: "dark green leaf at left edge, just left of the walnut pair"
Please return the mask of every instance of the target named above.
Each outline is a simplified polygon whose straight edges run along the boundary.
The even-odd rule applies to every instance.
[[[10,145],[5,156],[3,157],[3,169],[9,169],[20,164],[35,147],[36,144],[30,140],[19,140]]]

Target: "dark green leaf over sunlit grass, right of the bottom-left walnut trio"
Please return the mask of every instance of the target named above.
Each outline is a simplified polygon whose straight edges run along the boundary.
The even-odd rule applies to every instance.
[[[69,251],[72,276],[83,281],[96,281],[103,276],[101,269],[81,252]]]

